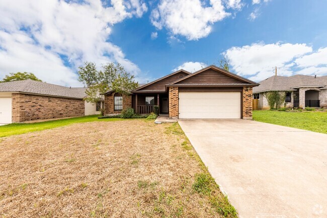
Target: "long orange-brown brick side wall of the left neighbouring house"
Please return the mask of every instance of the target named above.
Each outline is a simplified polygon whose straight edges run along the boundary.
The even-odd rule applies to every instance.
[[[85,115],[83,99],[12,94],[12,121],[24,122]]]

